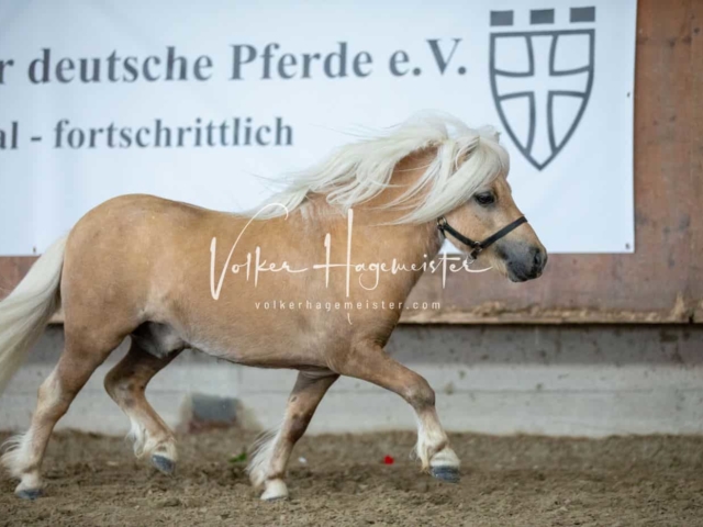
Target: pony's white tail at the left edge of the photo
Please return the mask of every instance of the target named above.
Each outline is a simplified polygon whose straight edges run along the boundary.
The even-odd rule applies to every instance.
[[[66,238],[46,249],[10,296],[0,302],[0,394],[58,309]]]

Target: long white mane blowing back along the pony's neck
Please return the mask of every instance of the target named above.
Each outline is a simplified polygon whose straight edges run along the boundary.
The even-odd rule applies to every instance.
[[[499,175],[507,175],[510,159],[491,126],[470,128],[445,114],[421,114],[358,143],[342,146],[323,162],[295,173],[288,187],[266,201],[289,212],[309,194],[326,194],[326,201],[346,212],[391,187],[395,165],[410,154],[435,147],[436,157],[422,177],[386,208],[406,210],[395,223],[425,223],[456,209]],[[268,206],[256,214],[268,218],[286,214]],[[254,215],[250,213],[249,215]]]

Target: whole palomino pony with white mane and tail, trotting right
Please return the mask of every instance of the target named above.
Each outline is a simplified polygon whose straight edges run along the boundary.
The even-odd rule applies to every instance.
[[[280,428],[248,469],[264,500],[288,496],[293,446],[339,375],[402,396],[417,417],[423,470],[457,481],[435,393],[383,346],[445,235],[513,281],[540,276],[546,250],[513,202],[507,170],[492,128],[429,115],[339,148],[247,215],[150,195],[93,209],[0,303],[0,389],[59,304],[65,319],[65,349],[32,424],[2,457],[20,480],[15,494],[41,494],[54,425],[126,336],[131,348],[104,385],[131,421],[135,453],[163,472],[175,468],[175,438],[144,392],[192,348],[299,371]],[[271,299],[297,309],[261,309]]]

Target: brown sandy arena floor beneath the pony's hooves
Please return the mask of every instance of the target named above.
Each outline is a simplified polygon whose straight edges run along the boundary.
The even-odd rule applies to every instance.
[[[260,502],[232,461],[252,439],[181,437],[169,478],[123,439],[57,434],[45,497],[20,501],[0,480],[0,526],[703,526],[703,438],[453,435],[465,468],[451,485],[419,473],[413,434],[308,437],[290,466],[291,500],[277,503]]]

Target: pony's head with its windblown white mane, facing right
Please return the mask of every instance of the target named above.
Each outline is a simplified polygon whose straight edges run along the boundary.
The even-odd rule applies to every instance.
[[[528,223],[480,253],[461,240],[484,240],[522,216],[506,180],[509,156],[498,139],[489,126],[473,130],[449,115],[416,115],[388,133],[345,145],[320,166],[295,175],[271,200],[284,209],[269,216],[323,194],[342,211],[382,210],[386,223],[435,224],[443,218],[459,234],[448,235],[459,250],[477,254],[512,281],[537,278],[547,251]]]

